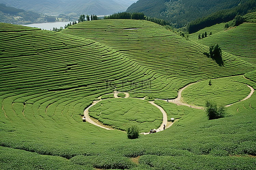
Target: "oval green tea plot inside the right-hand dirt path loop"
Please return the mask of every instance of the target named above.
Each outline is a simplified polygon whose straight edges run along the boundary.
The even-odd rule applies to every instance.
[[[204,80],[188,86],[182,91],[185,103],[204,106],[207,99],[218,101],[224,105],[236,103],[246,98],[251,89],[247,83],[240,83],[240,77]],[[211,82],[211,85],[209,85]]]

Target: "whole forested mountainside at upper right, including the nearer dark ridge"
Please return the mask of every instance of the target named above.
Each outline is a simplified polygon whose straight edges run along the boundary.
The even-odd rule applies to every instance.
[[[142,12],[148,17],[164,19],[176,28],[184,27],[191,22],[188,26],[191,33],[216,23],[230,21],[238,13],[244,15],[253,10],[255,10],[254,0],[140,0],[129,6],[126,12]]]

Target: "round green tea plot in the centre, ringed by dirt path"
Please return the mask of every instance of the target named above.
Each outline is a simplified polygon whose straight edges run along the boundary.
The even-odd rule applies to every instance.
[[[89,116],[123,131],[131,124],[136,124],[140,132],[157,129],[163,120],[163,115],[157,107],[148,101],[132,98],[103,100],[90,108]]]

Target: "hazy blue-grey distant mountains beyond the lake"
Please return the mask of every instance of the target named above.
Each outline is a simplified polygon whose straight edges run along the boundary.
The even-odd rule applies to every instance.
[[[6,6],[33,10],[48,15],[94,14],[108,15],[124,12],[137,0],[0,0]]]

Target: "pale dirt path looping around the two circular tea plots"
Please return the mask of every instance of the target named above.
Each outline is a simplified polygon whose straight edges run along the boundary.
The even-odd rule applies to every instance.
[[[183,103],[183,102],[181,101],[181,93],[182,93],[182,91],[183,91],[185,88],[187,88],[188,86],[193,85],[193,84],[195,84],[195,83],[191,83],[191,84],[189,84],[189,85],[183,87],[182,89],[180,89],[179,92],[178,92],[177,98],[176,98],[176,99],[173,99],[173,100],[169,100],[169,102],[172,102],[172,103],[177,104],[177,105],[185,105],[185,106],[188,106],[188,107],[191,107],[191,108],[203,109],[203,107],[200,107],[200,106],[191,106],[191,105],[189,105],[189,104],[187,104],[187,103]],[[247,86],[251,89],[251,93],[250,93],[246,98],[244,98],[244,99],[241,100],[241,101],[244,101],[244,100],[250,98],[250,97],[252,96],[253,92],[254,92],[254,89],[253,89],[251,86],[249,86],[249,85],[247,85]],[[114,91],[113,93],[110,93],[110,94],[114,94],[114,98],[120,98],[120,97],[117,96],[119,93],[124,93],[124,94],[125,94],[125,97],[124,97],[124,98],[130,97],[130,95],[129,95],[127,92],[118,92],[118,91]],[[94,125],[96,125],[96,126],[99,126],[100,128],[104,128],[104,129],[106,129],[106,130],[114,130],[114,129],[111,129],[111,128],[108,128],[108,127],[104,126],[104,125],[103,125],[102,123],[100,123],[98,120],[92,120],[92,119],[89,117],[89,108],[92,107],[92,106],[94,106],[95,104],[97,104],[98,102],[100,102],[100,101],[102,101],[102,100],[106,100],[106,99],[101,99],[101,97],[102,97],[102,96],[100,96],[100,97],[98,98],[99,100],[93,101],[93,104],[91,104],[89,107],[87,107],[87,108],[85,109],[85,111],[84,111],[85,119],[86,119],[87,122],[89,122],[89,123],[91,123],[91,124],[94,124]],[[145,98],[137,98],[137,99],[144,100]],[[155,100],[163,100],[163,99],[155,99]],[[166,100],[164,100],[164,101],[166,101]],[[155,104],[154,101],[150,101],[149,103],[151,103],[152,105],[156,106],[156,107],[162,112],[162,114],[163,114],[163,122],[162,122],[162,124],[160,125],[160,127],[156,130],[156,132],[163,131],[163,125],[166,125],[166,128],[169,128],[169,127],[175,122],[175,121],[174,121],[174,122],[171,122],[171,123],[170,123],[170,122],[167,122],[167,114],[166,114],[166,112],[164,111],[164,109],[163,109],[162,107],[158,106],[157,104]],[[236,103],[237,103],[237,102],[236,102]],[[233,103],[233,104],[235,104],[235,103]],[[232,104],[226,105],[226,107],[231,106],[231,105],[232,105]],[[149,132],[145,132],[145,133],[142,133],[142,134],[146,135],[146,134],[149,134]]]

